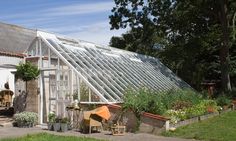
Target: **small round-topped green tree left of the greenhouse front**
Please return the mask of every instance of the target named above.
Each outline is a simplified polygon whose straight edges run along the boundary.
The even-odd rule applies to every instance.
[[[27,91],[27,82],[30,80],[36,79],[40,74],[40,70],[37,66],[31,64],[30,62],[20,63],[16,66],[16,79],[21,79],[26,82],[26,91]]]

